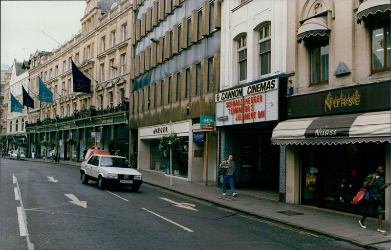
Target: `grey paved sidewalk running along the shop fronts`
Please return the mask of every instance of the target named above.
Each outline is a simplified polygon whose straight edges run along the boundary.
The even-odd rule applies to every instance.
[[[26,159],[32,160],[32,159]],[[35,159],[34,161],[44,161]],[[46,160],[47,163],[52,163]],[[80,162],[60,160],[57,164],[80,167]],[[238,212],[266,218],[290,226],[321,233],[339,240],[348,241],[362,248],[391,249],[390,223],[382,224],[387,233],[379,233],[377,219],[367,218],[366,229],[358,224],[358,215],[318,209],[303,205],[291,205],[278,202],[278,194],[237,189],[238,196],[232,197],[230,190],[227,196],[221,195],[221,189],[216,182],[194,183],[151,171],[139,170],[145,183],[172,190],[174,192],[194,197],[212,204],[224,206]],[[142,188],[142,186],[141,186]],[[242,192],[241,192],[242,191]]]

